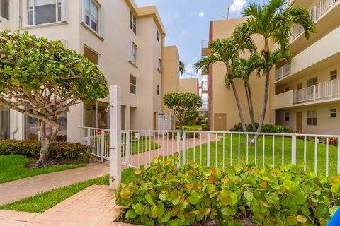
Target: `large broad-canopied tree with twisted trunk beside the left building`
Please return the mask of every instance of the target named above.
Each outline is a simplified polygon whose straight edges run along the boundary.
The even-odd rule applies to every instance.
[[[0,32],[0,105],[38,119],[39,166],[47,165],[58,117],[87,100],[108,96],[108,83],[96,64],[59,41]],[[52,133],[45,127],[52,126]]]

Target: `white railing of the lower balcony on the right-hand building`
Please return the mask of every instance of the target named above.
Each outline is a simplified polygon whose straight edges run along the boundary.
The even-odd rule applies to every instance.
[[[340,97],[340,78],[293,92],[293,105]]]

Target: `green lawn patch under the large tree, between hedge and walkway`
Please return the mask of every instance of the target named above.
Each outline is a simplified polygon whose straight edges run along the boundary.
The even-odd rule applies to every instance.
[[[27,157],[21,155],[0,155],[0,184],[64,169],[84,167],[84,164],[79,164],[55,165],[47,168],[28,169],[26,168],[26,165],[28,165],[29,162],[30,160]]]

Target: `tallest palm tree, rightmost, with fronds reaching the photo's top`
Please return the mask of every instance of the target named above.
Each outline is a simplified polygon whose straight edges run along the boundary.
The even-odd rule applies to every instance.
[[[239,25],[233,34],[236,37],[251,37],[251,35],[263,37],[264,45],[261,54],[265,64],[261,70],[265,76],[265,85],[257,132],[261,131],[266,116],[271,69],[280,61],[290,62],[291,60],[288,45],[293,26],[301,25],[307,39],[315,30],[307,8],[302,6],[286,8],[286,6],[286,0],[271,0],[265,6],[256,3],[249,4],[243,12],[243,16],[248,17],[246,22]],[[272,51],[270,44],[277,44],[276,50]]]

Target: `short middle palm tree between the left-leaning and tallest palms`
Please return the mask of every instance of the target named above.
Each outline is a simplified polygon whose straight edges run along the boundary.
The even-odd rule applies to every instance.
[[[259,76],[261,72],[261,70],[259,69],[263,68],[263,66],[264,66],[263,57],[261,57],[259,54],[251,54],[251,56],[248,59],[243,57],[240,58],[237,64],[235,64],[232,68],[234,78],[241,78],[244,81],[244,91],[246,93],[249,117],[251,121],[251,126],[253,127],[254,131],[256,131],[256,124],[254,117],[253,97],[251,95],[249,78],[251,76],[251,73],[256,71],[256,69],[258,72],[257,76]]]

